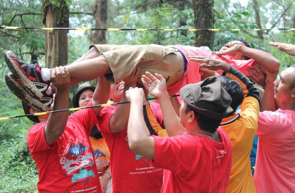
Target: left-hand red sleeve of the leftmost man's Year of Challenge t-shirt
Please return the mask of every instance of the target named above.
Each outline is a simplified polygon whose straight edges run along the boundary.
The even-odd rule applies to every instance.
[[[53,147],[49,146],[45,140],[46,123],[37,123],[33,125],[27,134],[27,144],[31,151],[31,154],[37,151],[44,151]]]

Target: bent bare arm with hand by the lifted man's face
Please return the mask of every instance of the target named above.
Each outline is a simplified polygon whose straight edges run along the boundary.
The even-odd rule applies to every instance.
[[[269,72],[275,72],[280,67],[280,62],[277,58],[273,57],[268,52],[264,52],[262,50],[254,49],[251,47],[246,47],[242,45],[236,45],[233,47],[230,47],[227,50],[222,50],[220,52],[216,52],[216,55],[222,56],[222,55],[236,55],[238,53],[242,53],[245,56],[248,56],[252,58],[255,61],[255,65],[258,65]]]

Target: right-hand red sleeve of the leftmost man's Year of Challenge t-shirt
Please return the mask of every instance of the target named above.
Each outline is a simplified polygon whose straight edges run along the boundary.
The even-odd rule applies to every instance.
[[[86,104],[86,106],[92,106],[92,100],[90,100]],[[80,121],[82,125],[85,126],[89,134],[91,132],[92,127],[98,123],[98,120],[93,108],[81,109],[79,111],[76,111],[69,116],[68,121],[71,121],[71,119],[74,119],[75,121]]]

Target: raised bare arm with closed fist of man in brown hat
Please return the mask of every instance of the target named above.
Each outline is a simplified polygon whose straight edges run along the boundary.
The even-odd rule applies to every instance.
[[[143,89],[136,87],[128,90],[126,91],[126,97],[131,102],[127,129],[129,147],[140,156],[154,159],[154,139],[150,136],[143,117],[143,104],[145,103]]]

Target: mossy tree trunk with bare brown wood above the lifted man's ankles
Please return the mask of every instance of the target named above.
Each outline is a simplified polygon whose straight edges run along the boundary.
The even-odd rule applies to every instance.
[[[69,0],[42,0],[43,23],[46,27],[69,27]],[[63,66],[68,62],[66,30],[46,30],[46,67]]]

